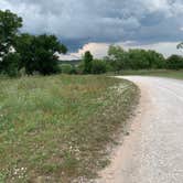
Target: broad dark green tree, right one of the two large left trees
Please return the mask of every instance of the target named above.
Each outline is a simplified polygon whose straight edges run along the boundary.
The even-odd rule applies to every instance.
[[[67,49],[61,44],[55,35],[17,36],[15,50],[21,55],[20,68],[24,67],[26,74],[39,72],[50,75],[58,72],[58,56],[56,53],[66,53]]]

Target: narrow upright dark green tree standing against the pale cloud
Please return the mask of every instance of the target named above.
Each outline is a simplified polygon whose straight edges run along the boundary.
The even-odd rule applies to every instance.
[[[85,52],[83,61],[84,61],[84,74],[90,74],[92,73],[93,55],[90,54],[89,51]]]

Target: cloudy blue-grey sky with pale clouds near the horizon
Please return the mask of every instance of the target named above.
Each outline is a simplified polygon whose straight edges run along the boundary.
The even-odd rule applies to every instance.
[[[183,41],[183,0],[0,0],[0,9],[21,15],[23,32],[56,34],[67,58],[86,50],[101,57],[109,44],[168,56]]]

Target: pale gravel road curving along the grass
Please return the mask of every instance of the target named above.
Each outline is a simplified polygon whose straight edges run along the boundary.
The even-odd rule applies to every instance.
[[[130,136],[98,183],[183,183],[183,82],[127,76],[141,89]]]

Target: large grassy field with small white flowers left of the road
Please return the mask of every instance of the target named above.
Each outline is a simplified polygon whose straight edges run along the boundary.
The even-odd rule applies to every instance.
[[[138,101],[133,84],[105,76],[1,78],[0,86],[2,183],[95,177]]]

